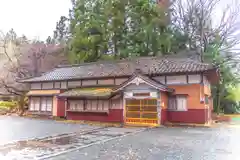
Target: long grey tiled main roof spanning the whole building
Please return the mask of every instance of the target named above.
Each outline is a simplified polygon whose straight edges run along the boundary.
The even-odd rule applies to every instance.
[[[84,63],[59,66],[39,77],[22,82],[84,79],[94,77],[131,76],[140,68],[144,74],[166,74],[184,72],[204,72],[213,69],[210,64],[200,63],[190,58],[140,57],[131,60]]]

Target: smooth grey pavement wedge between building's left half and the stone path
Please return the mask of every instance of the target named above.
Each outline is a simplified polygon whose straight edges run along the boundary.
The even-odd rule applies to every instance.
[[[37,120],[15,116],[0,116],[0,145],[20,140],[29,140],[81,129],[96,129],[96,126],[67,124],[52,120]]]

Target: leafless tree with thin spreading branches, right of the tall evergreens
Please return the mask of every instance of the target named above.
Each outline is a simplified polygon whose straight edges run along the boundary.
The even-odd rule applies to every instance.
[[[188,35],[188,47],[203,52],[218,36],[221,52],[231,52],[239,42],[240,5],[236,2],[222,9],[221,0],[175,0],[172,3],[173,26]],[[224,1],[226,3],[226,1]],[[216,14],[222,9],[222,14]]]

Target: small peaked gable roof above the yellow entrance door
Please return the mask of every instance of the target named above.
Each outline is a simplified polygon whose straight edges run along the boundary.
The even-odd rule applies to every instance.
[[[164,85],[160,82],[154,81],[153,79],[150,79],[149,77],[143,75],[141,70],[137,69],[134,72],[134,74],[127,81],[123,82],[120,86],[115,88],[113,90],[113,92],[119,92],[130,84],[139,85],[140,83],[145,83],[145,84],[152,86],[153,88],[156,88],[161,91],[166,91],[166,92],[174,91],[174,89],[168,88],[166,85]]]

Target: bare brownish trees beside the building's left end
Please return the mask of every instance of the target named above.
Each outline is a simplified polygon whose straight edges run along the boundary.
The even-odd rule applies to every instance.
[[[20,41],[21,42],[21,41]],[[63,48],[56,45],[46,45],[41,42],[20,43],[18,39],[2,38],[0,67],[0,86],[3,94],[8,93],[17,97],[19,109],[24,109],[24,99],[28,85],[18,83],[19,79],[39,76],[66,62]]]

